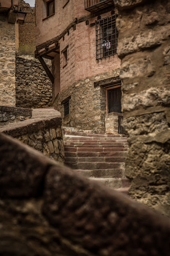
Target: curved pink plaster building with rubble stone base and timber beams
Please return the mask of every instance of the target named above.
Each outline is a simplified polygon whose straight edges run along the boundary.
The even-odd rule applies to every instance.
[[[35,4],[35,56],[53,62],[53,106],[61,112],[63,125],[117,134],[118,116],[123,114],[113,0],[88,1],[88,6],[83,0]]]

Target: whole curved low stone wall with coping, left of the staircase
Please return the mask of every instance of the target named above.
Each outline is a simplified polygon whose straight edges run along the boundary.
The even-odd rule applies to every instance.
[[[63,129],[61,114],[54,109],[33,109],[32,118],[0,128],[24,144],[43,152],[44,155],[64,162]]]

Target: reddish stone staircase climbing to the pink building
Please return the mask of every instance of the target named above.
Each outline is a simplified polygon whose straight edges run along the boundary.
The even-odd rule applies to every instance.
[[[127,193],[125,177],[127,137],[65,130],[65,164],[84,176]]]

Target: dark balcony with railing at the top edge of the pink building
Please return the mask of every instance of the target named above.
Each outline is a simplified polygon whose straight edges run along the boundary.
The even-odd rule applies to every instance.
[[[97,12],[111,5],[114,5],[113,0],[85,0],[85,10],[89,12]]]

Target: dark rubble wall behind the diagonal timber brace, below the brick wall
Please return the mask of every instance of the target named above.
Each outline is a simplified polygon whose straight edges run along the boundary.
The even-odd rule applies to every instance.
[[[51,81],[39,60],[31,56],[16,56],[16,106],[44,108],[51,104]]]

